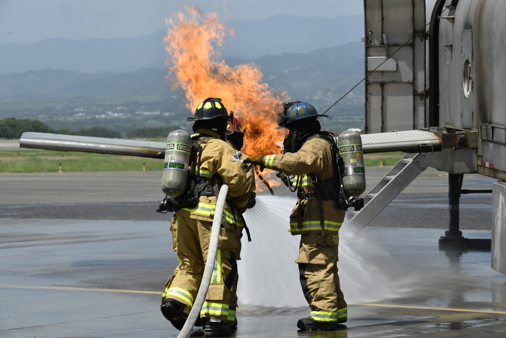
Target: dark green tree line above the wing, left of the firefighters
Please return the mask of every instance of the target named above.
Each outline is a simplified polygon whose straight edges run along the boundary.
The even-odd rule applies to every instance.
[[[138,128],[126,132],[127,138],[166,137],[171,131],[181,129],[177,126]],[[122,138],[121,133],[104,127],[79,129],[53,129],[39,120],[5,118],[0,120],[0,138],[19,139],[24,132],[52,133],[63,135]]]

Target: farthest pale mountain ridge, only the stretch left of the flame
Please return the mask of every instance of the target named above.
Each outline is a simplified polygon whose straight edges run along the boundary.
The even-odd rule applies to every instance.
[[[131,39],[51,39],[28,44],[0,45],[0,74],[29,70],[127,72],[163,68],[167,52],[163,32]]]

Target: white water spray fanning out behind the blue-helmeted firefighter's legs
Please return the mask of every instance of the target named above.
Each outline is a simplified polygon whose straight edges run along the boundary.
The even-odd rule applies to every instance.
[[[257,204],[244,214],[251,242],[243,237],[238,262],[239,304],[299,308],[308,306],[295,260],[300,236],[288,232],[296,197],[257,196]],[[374,302],[401,292],[392,276],[389,254],[364,232],[352,236],[346,223],[340,231],[339,277],[348,304]],[[396,272],[394,272],[397,275]]]

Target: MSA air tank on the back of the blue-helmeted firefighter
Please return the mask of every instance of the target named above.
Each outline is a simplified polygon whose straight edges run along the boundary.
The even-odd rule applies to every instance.
[[[339,155],[343,159],[343,189],[345,194],[358,197],[365,191],[364,153],[362,138],[353,130],[338,136]]]

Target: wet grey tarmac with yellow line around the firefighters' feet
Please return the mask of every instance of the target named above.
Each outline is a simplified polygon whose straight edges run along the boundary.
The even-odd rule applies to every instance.
[[[387,169],[369,168],[368,185]],[[178,336],[159,311],[177,265],[170,215],[153,209],[159,180],[151,172],[0,174],[0,336]],[[490,181],[473,175],[463,185]],[[277,192],[260,194],[259,208],[278,199],[280,213],[290,209],[293,197]],[[267,224],[255,232],[252,217],[233,336],[505,337],[506,276],[490,268],[490,252],[438,247],[446,196],[445,174],[428,170],[358,236],[343,226],[338,266],[348,322],[332,332],[298,331],[309,309],[292,277],[297,237],[278,224],[266,239]],[[491,196],[460,203],[463,235],[490,238]],[[277,275],[258,270],[269,265]]]

